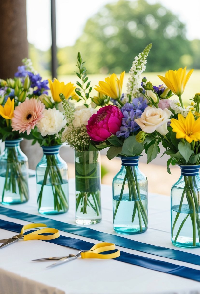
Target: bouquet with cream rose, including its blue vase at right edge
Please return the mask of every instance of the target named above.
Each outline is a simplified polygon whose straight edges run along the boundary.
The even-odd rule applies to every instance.
[[[170,156],[167,171],[170,163],[181,168],[181,177],[171,189],[171,240],[176,246],[192,248],[200,246],[200,93],[190,99],[189,106],[183,105],[182,93],[193,69],[187,74],[186,70],[169,70],[165,77],[159,76],[167,88],[153,87],[150,82],[143,85],[144,97],[148,99],[150,92],[157,99],[148,99],[150,106],[136,121],[142,129],[137,139],[144,144],[148,162],[160,152],[158,143],[162,142],[164,154]],[[168,99],[172,93],[178,100]]]

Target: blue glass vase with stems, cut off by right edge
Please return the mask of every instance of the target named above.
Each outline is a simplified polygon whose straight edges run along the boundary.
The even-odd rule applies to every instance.
[[[171,240],[182,248],[200,246],[200,165],[184,166],[171,189]]]

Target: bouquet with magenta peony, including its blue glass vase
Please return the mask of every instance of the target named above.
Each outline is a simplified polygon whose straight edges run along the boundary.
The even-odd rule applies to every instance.
[[[140,131],[136,119],[148,107],[138,88],[151,46],[135,57],[127,93],[122,94],[125,72],[119,79],[112,74],[94,88],[99,95],[92,101],[102,108],[91,116],[86,126],[96,149],[109,147],[110,160],[121,158],[122,168],[113,179],[113,227],[123,234],[142,233],[148,228],[147,179],[138,168],[143,144],[136,141]]]

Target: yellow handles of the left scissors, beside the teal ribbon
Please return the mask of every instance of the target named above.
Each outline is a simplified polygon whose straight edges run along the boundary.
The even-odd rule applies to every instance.
[[[37,227],[46,227],[45,223],[30,223],[28,225],[24,225],[23,228],[21,229],[20,234],[23,235],[24,230],[27,229],[32,229],[32,228],[37,228]],[[39,235],[42,233],[53,233],[53,235],[48,235],[48,236],[43,236]],[[52,240],[60,237],[59,230],[53,229],[53,228],[45,228],[45,229],[40,229],[40,230],[35,230],[32,233],[29,233],[27,235],[24,235],[24,240]]]

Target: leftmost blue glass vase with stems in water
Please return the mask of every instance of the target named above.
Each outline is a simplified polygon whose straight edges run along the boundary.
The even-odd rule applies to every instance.
[[[6,140],[0,156],[0,203],[20,204],[29,199],[28,158],[21,151],[23,139]]]

